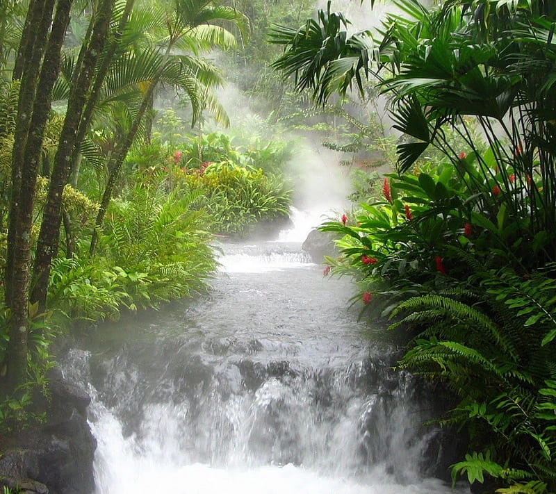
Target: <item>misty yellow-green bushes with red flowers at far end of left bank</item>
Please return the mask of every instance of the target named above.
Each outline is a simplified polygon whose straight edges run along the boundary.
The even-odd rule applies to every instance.
[[[128,162],[142,176],[162,181],[165,191],[194,194],[195,209],[207,213],[213,233],[245,236],[258,222],[288,217],[291,190],[281,177],[291,150],[273,140],[257,138],[245,146],[232,141],[213,132],[189,136],[179,149],[153,142]]]

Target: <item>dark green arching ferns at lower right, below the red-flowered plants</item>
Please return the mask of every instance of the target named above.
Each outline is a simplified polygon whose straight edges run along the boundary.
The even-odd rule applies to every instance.
[[[454,479],[466,473],[483,483],[489,475],[511,485],[497,492],[556,488],[556,282],[549,276],[481,271],[467,287],[411,297],[392,313],[404,314],[395,327],[419,329],[400,366],[445,381],[458,397],[446,422],[466,427],[475,452],[452,466]]]

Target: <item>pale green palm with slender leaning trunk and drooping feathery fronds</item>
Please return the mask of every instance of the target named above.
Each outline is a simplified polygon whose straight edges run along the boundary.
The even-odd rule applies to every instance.
[[[171,8],[170,8],[171,7]],[[106,208],[126,155],[140,129],[145,112],[152,104],[152,96],[158,83],[174,85],[185,92],[193,109],[193,122],[207,108],[220,120],[227,120],[222,107],[211,90],[221,83],[220,76],[211,63],[199,58],[199,53],[211,47],[236,46],[236,38],[223,25],[228,22],[244,31],[245,17],[232,8],[212,6],[206,0],[175,0],[159,12],[166,32],[154,47],[142,53],[130,51],[124,55],[126,71],[136,67],[147,68],[137,81],[141,101],[133,116],[129,130],[115,149],[108,162],[108,181],[102,195],[96,225],[104,222]],[[137,72],[138,73],[138,72]],[[95,254],[98,230],[92,234],[90,254]]]

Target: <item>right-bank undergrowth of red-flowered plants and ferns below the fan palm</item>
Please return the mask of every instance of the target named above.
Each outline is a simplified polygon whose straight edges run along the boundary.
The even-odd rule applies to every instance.
[[[464,159],[463,175],[445,162],[386,176],[384,201],[320,229],[339,236],[332,272],[352,275],[364,304],[375,295],[365,308],[413,336],[400,367],[455,396],[441,422],[463,427],[471,452],[453,466],[454,478],[552,492],[555,265],[532,256],[534,238],[516,233],[522,213],[497,205],[486,181],[477,204],[471,177],[480,164]]]

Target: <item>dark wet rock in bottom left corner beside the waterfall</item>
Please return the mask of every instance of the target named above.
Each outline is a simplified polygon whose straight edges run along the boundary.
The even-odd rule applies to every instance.
[[[35,406],[46,422],[10,438],[0,438],[0,488],[17,493],[90,494],[97,441],[87,422],[90,397],[52,372],[51,397]]]

